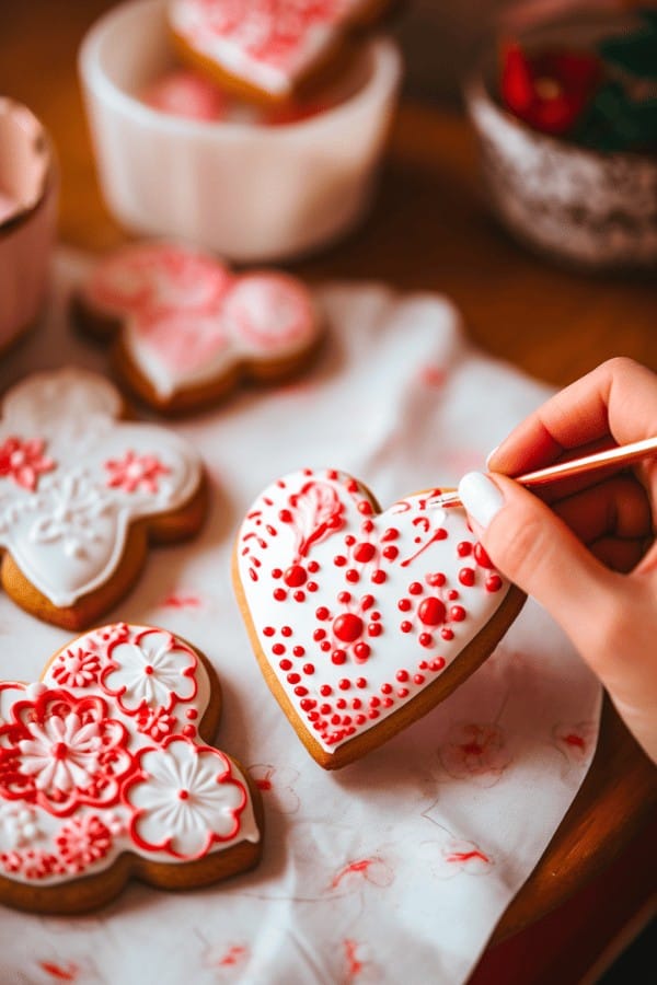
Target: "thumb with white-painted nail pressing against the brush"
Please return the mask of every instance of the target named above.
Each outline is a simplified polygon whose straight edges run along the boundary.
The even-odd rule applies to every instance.
[[[493,564],[540,602],[578,649],[586,647],[600,606],[618,592],[613,572],[550,507],[507,476],[470,472],[459,497]]]

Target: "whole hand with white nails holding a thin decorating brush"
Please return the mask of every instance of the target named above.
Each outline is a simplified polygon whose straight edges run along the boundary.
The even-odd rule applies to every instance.
[[[508,478],[655,434],[657,375],[618,357],[530,415],[459,496],[494,564],[552,614],[657,762],[657,459],[540,494]]]

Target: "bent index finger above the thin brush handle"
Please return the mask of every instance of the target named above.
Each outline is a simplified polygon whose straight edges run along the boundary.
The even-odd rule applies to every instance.
[[[626,444],[657,434],[657,375],[616,357],[555,394],[493,452],[488,467],[519,475],[592,443]],[[588,447],[588,448],[587,448]]]

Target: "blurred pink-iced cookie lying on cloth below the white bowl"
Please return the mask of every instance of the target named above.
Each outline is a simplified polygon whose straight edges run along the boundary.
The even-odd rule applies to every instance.
[[[88,333],[116,335],[119,378],[163,413],[207,406],[242,379],[286,379],[308,363],[321,335],[297,278],[235,276],[207,254],[164,241],[100,260],[73,308]]]

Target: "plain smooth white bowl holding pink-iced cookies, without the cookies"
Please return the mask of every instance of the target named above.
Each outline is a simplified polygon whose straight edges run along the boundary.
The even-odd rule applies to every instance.
[[[83,39],[79,69],[102,192],[130,232],[192,241],[237,262],[295,257],[364,215],[399,94],[389,38],[364,47],[338,105],[267,127],[168,116],[137,95],[172,66],[164,0],[130,0]]]

